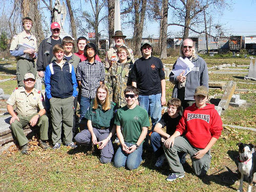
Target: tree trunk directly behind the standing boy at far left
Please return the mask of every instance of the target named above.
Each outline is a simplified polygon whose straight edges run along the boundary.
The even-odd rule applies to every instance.
[[[41,14],[38,10],[39,0],[22,0],[22,15],[23,17],[30,17],[33,20],[33,27],[31,33],[35,35],[37,45],[45,38],[44,32],[42,31],[41,25]]]

